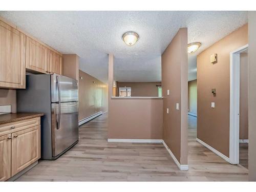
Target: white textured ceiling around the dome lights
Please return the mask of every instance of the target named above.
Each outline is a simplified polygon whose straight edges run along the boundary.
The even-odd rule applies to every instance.
[[[108,81],[108,53],[115,56],[118,81],[161,81],[161,54],[178,29],[188,43],[188,79],[196,79],[196,55],[247,23],[247,11],[0,11],[0,15],[62,53],[80,56],[80,69]],[[134,46],[122,34],[135,31]]]

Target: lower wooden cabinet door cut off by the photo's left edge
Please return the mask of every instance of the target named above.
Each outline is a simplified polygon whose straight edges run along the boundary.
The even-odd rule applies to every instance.
[[[0,181],[11,177],[11,134],[0,137]]]

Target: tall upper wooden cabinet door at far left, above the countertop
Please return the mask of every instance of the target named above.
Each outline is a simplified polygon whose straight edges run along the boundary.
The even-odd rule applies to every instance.
[[[0,20],[0,88],[25,88],[26,35]]]

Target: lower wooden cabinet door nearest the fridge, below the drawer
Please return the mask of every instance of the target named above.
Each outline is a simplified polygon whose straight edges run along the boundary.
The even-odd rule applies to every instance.
[[[12,174],[14,176],[40,158],[40,125],[12,133]]]

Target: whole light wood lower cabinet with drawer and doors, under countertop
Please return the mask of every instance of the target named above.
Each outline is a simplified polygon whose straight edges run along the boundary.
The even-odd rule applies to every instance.
[[[0,181],[40,159],[40,117],[0,124]]]

